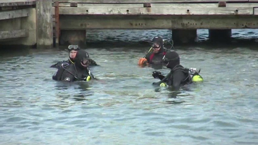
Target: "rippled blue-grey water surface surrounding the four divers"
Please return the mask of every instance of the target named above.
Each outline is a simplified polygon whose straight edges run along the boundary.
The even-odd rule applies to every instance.
[[[257,38],[257,30],[249,31],[233,34]],[[112,32],[95,37],[108,35]],[[153,37],[141,38],[147,32],[124,35]],[[180,91],[152,86],[158,81],[151,76],[154,68],[137,66],[148,45],[91,46],[90,57],[101,65],[91,72],[101,81],[70,84],[53,81],[57,69],[49,68],[68,58],[65,50],[2,52],[0,143],[258,144],[257,49],[175,48],[183,66],[201,68],[202,84]],[[169,72],[165,67],[160,71]]]

